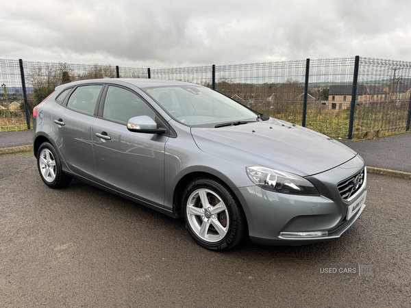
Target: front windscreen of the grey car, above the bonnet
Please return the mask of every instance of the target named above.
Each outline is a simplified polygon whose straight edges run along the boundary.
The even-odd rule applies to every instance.
[[[188,126],[255,121],[257,113],[209,88],[195,85],[145,88],[175,120]]]

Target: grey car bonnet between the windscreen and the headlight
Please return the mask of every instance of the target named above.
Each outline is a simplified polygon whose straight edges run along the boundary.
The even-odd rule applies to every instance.
[[[357,153],[321,133],[271,118],[231,127],[191,129],[201,151],[245,166],[303,177],[344,164]]]

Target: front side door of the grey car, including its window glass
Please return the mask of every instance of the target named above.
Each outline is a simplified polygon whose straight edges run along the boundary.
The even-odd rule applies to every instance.
[[[150,116],[166,127],[138,94],[108,86],[92,127],[97,181],[158,206],[164,203],[164,149],[169,137],[127,130],[134,116]],[[103,136],[103,137],[101,137]]]

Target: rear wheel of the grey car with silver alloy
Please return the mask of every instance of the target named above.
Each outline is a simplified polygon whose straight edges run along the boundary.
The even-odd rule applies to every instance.
[[[49,188],[63,188],[71,182],[71,177],[64,174],[60,158],[49,142],[42,143],[38,148],[37,167],[42,181]]]

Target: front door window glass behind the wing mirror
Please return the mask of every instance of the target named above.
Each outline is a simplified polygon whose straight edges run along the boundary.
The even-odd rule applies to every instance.
[[[108,87],[103,118],[127,125],[134,116],[149,116],[155,120],[153,110],[138,95],[116,86]]]

